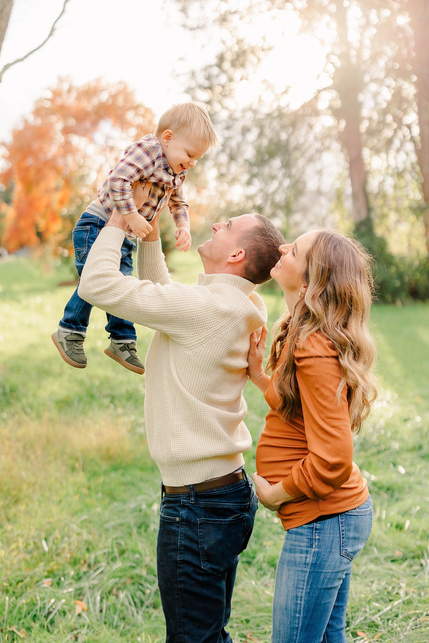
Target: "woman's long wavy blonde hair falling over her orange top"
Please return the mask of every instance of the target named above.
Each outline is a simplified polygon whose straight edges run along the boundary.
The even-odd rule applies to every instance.
[[[275,387],[281,400],[278,412],[288,420],[300,408],[300,393],[293,354],[297,343],[305,347],[309,335],[320,332],[338,350],[341,381],[336,397],[347,385],[352,430],[359,431],[377,396],[372,376],[376,345],[369,332],[369,314],[374,290],[372,258],[363,246],[333,230],[318,231],[307,251],[303,283],[304,297],[291,315],[287,310],[275,331],[268,369],[274,372],[280,354],[288,346],[286,359],[278,367]]]

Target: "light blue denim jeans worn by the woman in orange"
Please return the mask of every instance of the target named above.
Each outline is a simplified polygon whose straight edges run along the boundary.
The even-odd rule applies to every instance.
[[[372,500],[289,529],[278,559],[271,643],[346,643],[352,561],[372,527]]]

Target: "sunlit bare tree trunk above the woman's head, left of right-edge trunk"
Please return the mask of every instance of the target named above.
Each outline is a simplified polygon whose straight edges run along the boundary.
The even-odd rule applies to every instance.
[[[347,10],[342,2],[335,5],[340,68],[334,75],[334,89],[341,101],[340,107],[336,110],[336,116],[345,121],[340,140],[349,157],[353,218],[354,222],[358,223],[368,216],[367,170],[362,157],[361,105],[358,98],[361,78],[351,57],[351,46],[347,35]]]

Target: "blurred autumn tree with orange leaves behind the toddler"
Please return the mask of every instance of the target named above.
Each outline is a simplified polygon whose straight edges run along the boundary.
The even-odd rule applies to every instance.
[[[151,109],[125,83],[75,87],[60,79],[4,145],[1,245],[68,255],[71,230],[96,186],[125,147],[153,129]]]

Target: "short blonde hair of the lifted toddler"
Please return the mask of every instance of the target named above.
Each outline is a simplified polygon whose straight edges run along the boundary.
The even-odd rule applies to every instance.
[[[209,150],[221,147],[207,110],[197,103],[181,103],[167,109],[156,125],[155,136],[160,138],[166,129],[173,134],[190,134],[208,145]]]

